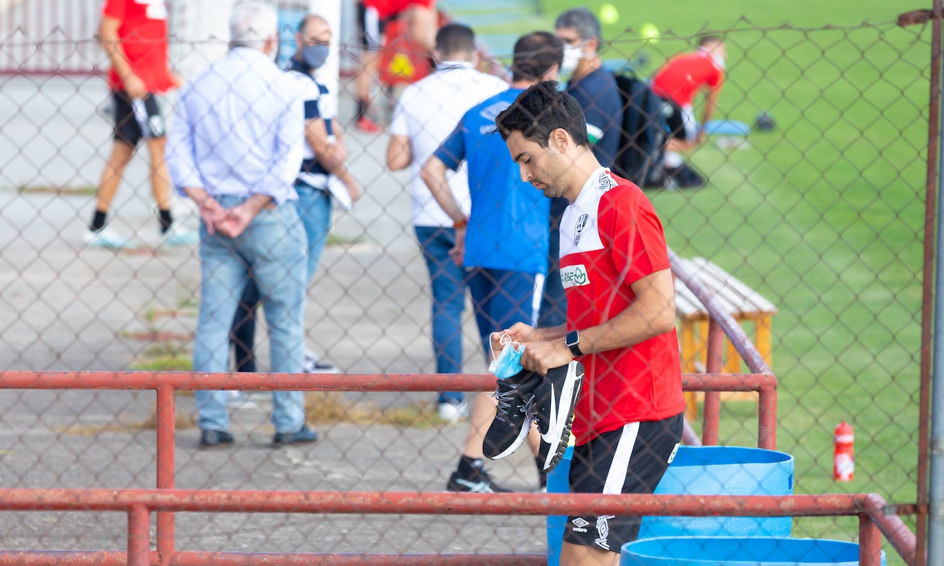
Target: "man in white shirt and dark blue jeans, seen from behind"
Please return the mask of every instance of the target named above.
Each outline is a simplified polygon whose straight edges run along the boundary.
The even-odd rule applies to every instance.
[[[475,70],[477,59],[475,35],[460,24],[443,26],[436,34],[436,72],[403,91],[390,125],[387,167],[398,171],[411,167],[413,192],[413,228],[430,271],[432,290],[432,346],[436,373],[462,372],[462,316],[465,305],[462,267],[449,257],[456,245],[452,219],[436,203],[420,171],[432,153],[459,124],[469,108],[498,92],[508,84],[493,75]],[[455,199],[469,213],[469,189],[466,168],[450,172],[449,188]],[[439,414],[454,421],[467,412],[461,392],[439,395]]]

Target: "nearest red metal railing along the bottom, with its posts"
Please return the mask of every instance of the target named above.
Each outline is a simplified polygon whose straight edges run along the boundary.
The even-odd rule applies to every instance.
[[[245,564],[529,564],[544,555],[335,555],[177,552],[149,550],[150,512],[378,513],[472,515],[687,515],[687,516],[841,516],[859,517],[859,563],[881,564],[881,536],[908,564],[915,559],[915,537],[897,517],[885,516],[885,500],[875,494],[841,495],[596,495],[548,493],[432,493],[383,491],[191,491],[191,490],[0,490],[0,509],[122,511],[128,516],[126,553],[0,553],[0,565],[69,564],[203,565]]]

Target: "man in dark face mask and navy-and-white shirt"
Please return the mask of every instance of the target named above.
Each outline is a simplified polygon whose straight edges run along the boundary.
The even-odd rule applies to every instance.
[[[320,104],[328,89],[317,82],[314,72],[325,64],[329,55],[331,28],[328,21],[317,15],[306,16],[295,34],[295,56],[289,62],[288,73],[305,92],[305,141],[304,159],[295,179],[298,193],[298,215],[305,225],[308,236],[308,277],[311,280],[318,267],[321,252],[328,241],[331,222],[331,199],[329,176],[341,181],[351,201],[356,200],[361,189],[354,176],[347,170],[345,160],[347,148],[343,142],[341,128],[328,106]],[[253,354],[256,322],[255,311],[259,306],[259,288],[250,279],[243,291],[239,308],[233,318],[230,341],[236,353],[237,372],[255,372],[256,359]],[[306,350],[304,358],[306,373],[337,373],[338,369],[323,361],[317,353]]]

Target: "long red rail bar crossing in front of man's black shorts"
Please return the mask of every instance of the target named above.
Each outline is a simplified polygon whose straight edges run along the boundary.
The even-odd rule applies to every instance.
[[[869,496],[12,489],[0,490],[0,510],[818,517],[860,514]]]

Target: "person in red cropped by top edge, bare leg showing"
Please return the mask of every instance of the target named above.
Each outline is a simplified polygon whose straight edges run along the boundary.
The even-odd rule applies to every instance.
[[[435,0],[362,0],[358,2],[358,21],[361,25],[362,60],[355,89],[357,113],[355,125],[359,130],[376,134],[380,126],[371,120],[371,90],[377,80],[379,50],[383,47],[384,28],[396,18],[406,20],[410,39],[420,49],[432,54],[436,47],[436,29],[439,16]]]

